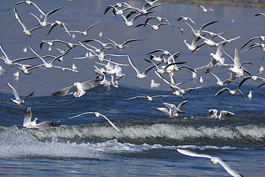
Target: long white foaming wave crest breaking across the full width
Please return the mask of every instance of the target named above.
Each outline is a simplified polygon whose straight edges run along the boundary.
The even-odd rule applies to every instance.
[[[245,126],[199,126],[156,123],[152,125],[133,125],[119,127],[118,132],[112,126],[102,124],[83,125],[61,125],[46,129],[28,129],[12,127],[0,127],[0,137],[4,134],[27,134],[33,139],[155,139],[163,138],[168,140],[187,140],[197,138],[207,139],[231,139],[231,140],[255,140],[263,141],[265,138],[265,125],[245,125]]]

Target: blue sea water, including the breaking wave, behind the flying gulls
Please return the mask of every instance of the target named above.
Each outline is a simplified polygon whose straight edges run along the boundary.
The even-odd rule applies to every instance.
[[[157,16],[168,17],[174,26],[184,28],[184,36],[177,30],[161,28],[153,31],[149,28],[128,28],[121,18],[114,18],[110,12],[102,12],[109,4],[117,1],[44,1],[36,2],[45,12],[58,7],[64,7],[56,12],[60,21],[69,24],[70,29],[85,29],[98,19],[100,23],[89,30],[88,36],[76,34],[72,39],[63,33],[60,27],[46,36],[47,28],[35,31],[30,38],[21,32],[21,26],[14,18],[13,11],[4,12],[16,1],[2,2],[0,7],[1,44],[10,58],[28,57],[33,54],[22,49],[29,45],[40,55],[46,55],[47,46],[39,50],[40,39],[60,38],[77,43],[77,40],[89,38],[100,39],[97,33],[102,31],[103,36],[123,42],[129,38],[146,38],[148,40],[131,43],[133,49],[125,49],[121,54],[130,54],[135,65],[140,70],[149,66],[142,61],[148,57],[146,53],[163,49],[177,52],[181,51],[179,61],[187,61],[187,66],[202,66],[208,63],[208,53],[212,48],[202,48],[196,55],[191,55],[184,46],[184,38],[189,42],[193,36],[182,22],[176,22],[179,16],[193,18],[197,26],[205,21],[219,20],[215,27],[209,26],[208,30],[217,32],[228,31],[227,38],[239,35],[240,40],[229,43],[226,52],[234,55],[234,48],[240,48],[245,41],[253,36],[262,35],[263,24],[259,17],[253,17],[261,9],[209,6],[216,13],[208,15],[202,13],[196,5],[168,4],[156,10]],[[141,6],[139,1],[129,1],[133,6]],[[77,11],[77,8],[78,11]],[[24,23],[28,26],[36,25],[32,17],[26,12],[38,13],[37,10],[24,4],[17,6],[17,11]],[[54,14],[56,15],[56,14]],[[232,23],[231,19],[235,22]],[[83,22],[83,23],[82,23]],[[89,24],[87,24],[89,23]],[[139,22],[140,23],[140,22]],[[12,28],[7,25],[10,24]],[[136,23],[137,24],[137,23]],[[162,26],[163,27],[163,26]],[[244,30],[242,30],[242,28]],[[219,31],[220,30],[220,31]],[[250,32],[251,31],[251,32]],[[127,36],[127,37],[125,37]],[[174,40],[172,38],[174,37]],[[101,39],[100,39],[101,40]],[[91,43],[92,44],[92,43]],[[64,45],[55,47],[64,48]],[[214,49],[215,52],[216,49]],[[220,165],[213,165],[209,159],[185,156],[176,151],[177,148],[186,148],[198,153],[210,154],[221,157],[231,168],[239,171],[244,176],[263,176],[265,172],[264,156],[264,89],[255,89],[259,83],[248,80],[240,90],[246,95],[252,90],[253,97],[243,101],[239,95],[231,96],[224,93],[218,97],[215,94],[221,87],[215,84],[215,78],[210,74],[202,75],[204,83],[209,83],[202,89],[191,91],[184,95],[185,99],[177,96],[156,98],[151,103],[146,100],[124,100],[136,96],[170,95],[171,90],[163,83],[160,89],[150,89],[150,79],[162,82],[153,74],[148,73],[147,78],[136,79],[135,71],[130,67],[123,67],[125,78],[119,80],[118,88],[112,87],[111,91],[104,92],[104,87],[99,85],[80,97],[66,96],[58,98],[49,93],[70,86],[75,81],[86,81],[95,77],[93,69],[94,60],[73,60],[72,56],[84,56],[86,51],[76,48],[69,56],[64,57],[59,66],[71,67],[72,63],[78,65],[83,73],[62,72],[57,69],[32,70],[32,74],[20,73],[19,80],[15,80],[10,73],[18,68],[3,66],[7,73],[0,76],[0,175],[37,175],[37,176],[227,176],[229,175]],[[52,49],[52,55],[59,53]],[[113,54],[114,51],[108,51]],[[260,60],[263,52],[252,49],[241,54],[241,61],[251,61],[255,65],[246,66],[250,72],[257,74],[257,67],[262,65]],[[230,63],[226,57],[227,62]],[[126,63],[125,58],[115,58],[115,61]],[[39,60],[30,63],[39,64]],[[25,62],[27,63],[27,62]],[[213,72],[221,79],[227,78],[227,69],[214,68]],[[178,81],[186,80],[191,75],[186,70],[177,73]],[[199,77],[197,77],[199,78]],[[6,84],[9,81],[16,87],[19,95],[26,96],[31,92],[35,95],[22,104],[16,106],[11,90]],[[240,79],[237,79],[240,81]],[[196,79],[186,83],[183,87],[202,85]],[[230,88],[236,89],[231,83]],[[178,105],[182,101],[188,103],[182,107],[186,113],[179,117],[169,118],[156,110],[163,107],[163,102]],[[47,129],[28,129],[22,126],[26,106],[31,106],[33,118],[39,121],[62,120],[58,127]],[[209,109],[218,111],[227,110],[235,113],[233,117],[224,119],[210,119]],[[107,116],[121,129],[118,132],[103,117],[83,115],[73,119],[67,117],[83,112],[99,112]]]

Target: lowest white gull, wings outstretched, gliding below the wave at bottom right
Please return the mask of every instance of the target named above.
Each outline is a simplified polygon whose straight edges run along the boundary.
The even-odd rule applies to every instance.
[[[177,151],[180,152],[181,154],[192,156],[192,157],[206,157],[206,158],[209,158],[210,162],[213,163],[213,164],[220,163],[225,168],[225,170],[229,174],[231,174],[232,176],[234,176],[234,177],[243,176],[242,174],[239,174],[237,171],[231,169],[230,166],[228,164],[226,164],[223,160],[221,160],[219,157],[213,157],[213,156],[210,156],[210,155],[207,155],[207,154],[198,154],[196,152],[192,152],[192,151],[189,151],[189,150],[186,150],[186,149],[177,149]]]

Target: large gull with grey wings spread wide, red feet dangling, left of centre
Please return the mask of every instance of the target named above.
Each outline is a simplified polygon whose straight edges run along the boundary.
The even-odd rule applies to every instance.
[[[93,87],[98,85],[101,80],[92,79],[92,80],[88,80],[86,82],[81,82],[81,83],[75,82],[74,85],[61,89],[60,91],[52,93],[51,95],[55,95],[58,97],[64,97],[67,95],[74,94],[74,97],[81,97],[86,93],[85,90],[92,89]]]

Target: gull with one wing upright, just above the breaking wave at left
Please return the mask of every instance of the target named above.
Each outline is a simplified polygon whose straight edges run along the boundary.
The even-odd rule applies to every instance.
[[[54,121],[54,122],[44,121],[44,122],[36,124],[36,121],[38,120],[38,118],[34,118],[34,120],[31,121],[31,117],[32,117],[31,108],[28,106],[24,113],[23,126],[27,128],[48,128],[51,126],[57,126],[61,123],[61,120],[59,120],[59,121]]]

